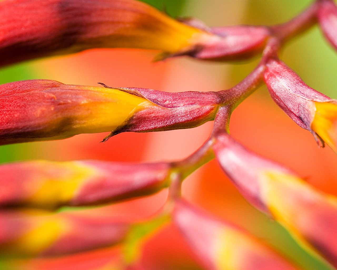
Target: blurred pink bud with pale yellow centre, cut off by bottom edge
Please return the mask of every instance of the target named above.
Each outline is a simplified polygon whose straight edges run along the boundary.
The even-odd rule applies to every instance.
[[[177,202],[173,219],[198,260],[210,270],[296,269],[241,229]]]

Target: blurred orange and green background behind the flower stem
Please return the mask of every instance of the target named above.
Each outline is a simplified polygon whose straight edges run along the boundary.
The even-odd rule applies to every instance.
[[[285,22],[311,1],[293,0],[147,0],[173,16],[193,16],[208,26],[237,24],[273,25]],[[144,87],[162,91],[219,91],[243,79],[257,64],[213,63],[188,57],[152,60],[159,52],[136,49],[95,49],[38,59],[0,70],[0,83],[27,79],[52,79],[67,84]],[[314,89],[337,98],[337,52],[317,26],[284,46],[281,59]],[[99,159],[150,162],[178,160],[195,151],[209,136],[212,122],[189,130],[125,133],[99,143],[107,134],[77,135],[61,141],[0,146],[0,162],[47,159]],[[251,150],[283,163],[308,183],[337,195],[337,156],[319,149],[312,135],[288,118],[259,88],[233,113],[231,134]],[[123,218],[145,218],[165,201],[167,191],[111,206]],[[251,207],[211,161],[183,184],[183,196],[214,215],[245,228],[271,244],[304,269],[329,269],[295,243],[275,221]],[[145,269],[202,269],[174,226],[166,226],[143,248]]]

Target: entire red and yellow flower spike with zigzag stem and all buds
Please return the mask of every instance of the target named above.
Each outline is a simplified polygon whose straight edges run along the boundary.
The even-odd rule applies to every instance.
[[[215,120],[204,145],[180,161],[0,165],[0,253],[9,258],[1,263],[10,269],[62,264],[81,270],[140,269],[135,249],[172,222],[205,269],[299,269],[250,233],[181,198],[187,175],[216,157],[250,204],[337,268],[337,198],[252,153],[228,133],[232,111],[265,82],[295,123],[337,153],[337,100],[309,87],[278,58],[286,39],[317,22],[337,48],[337,7],[330,0],[314,2],[282,25],[213,28],[197,19],[174,20],[135,0],[0,2],[0,66],[91,48],[152,49],[160,51],[157,60],[182,55],[240,60],[262,53],[253,72],[219,92],[168,93],[53,80],[0,85],[0,145],[111,132],[104,142],[122,132],[187,129]],[[145,221],[121,220],[111,211],[112,203],[164,188],[169,190],[166,204]],[[74,208],[60,211],[62,206]],[[117,248],[124,253],[116,254]]]

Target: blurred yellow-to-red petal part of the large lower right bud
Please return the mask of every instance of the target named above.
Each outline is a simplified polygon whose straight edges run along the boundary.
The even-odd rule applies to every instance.
[[[273,217],[337,266],[337,198],[293,175],[267,171],[262,197]]]

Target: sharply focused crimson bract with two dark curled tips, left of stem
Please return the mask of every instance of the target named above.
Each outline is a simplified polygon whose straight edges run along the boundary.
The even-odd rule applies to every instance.
[[[164,131],[200,126],[214,120],[221,103],[218,92],[170,93],[146,88],[118,89],[145,98],[158,106],[135,112],[127,123],[118,127],[103,141],[121,132]]]

